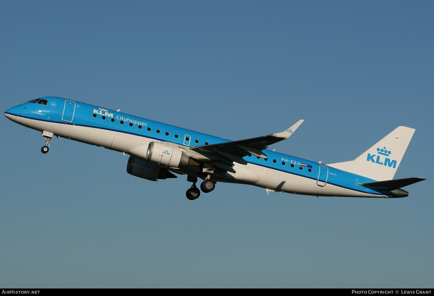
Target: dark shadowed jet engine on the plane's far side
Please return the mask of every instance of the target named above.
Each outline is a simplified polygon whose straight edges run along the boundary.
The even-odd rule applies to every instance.
[[[137,158],[130,156],[127,164],[127,173],[133,176],[156,181],[157,179],[176,178],[174,174],[165,168],[158,167],[155,164],[148,164]]]

